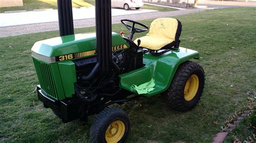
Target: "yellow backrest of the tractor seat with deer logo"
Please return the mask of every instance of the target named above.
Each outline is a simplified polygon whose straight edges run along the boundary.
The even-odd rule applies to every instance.
[[[150,25],[148,36],[157,36],[174,41],[179,40],[181,23],[174,18],[157,18]]]

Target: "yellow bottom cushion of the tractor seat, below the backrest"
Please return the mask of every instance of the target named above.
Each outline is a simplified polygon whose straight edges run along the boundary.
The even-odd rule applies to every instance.
[[[135,44],[137,45],[138,45],[138,42],[137,42],[138,39],[140,40],[140,45],[139,45],[140,47],[144,47],[152,50],[159,50],[165,45],[170,44],[171,42],[174,41],[173,39],[146,35],[144,37],[140,37],[134,40]]]

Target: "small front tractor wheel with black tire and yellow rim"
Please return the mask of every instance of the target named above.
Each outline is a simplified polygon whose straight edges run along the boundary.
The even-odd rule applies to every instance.
[[[130,127],[127,114],[118,108],[108,108],[100,112],[91,125],[92,142],[122,142]]]

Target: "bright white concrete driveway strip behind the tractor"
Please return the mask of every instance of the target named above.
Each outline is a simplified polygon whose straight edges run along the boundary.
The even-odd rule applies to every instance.
[[[156,10],[149,9],[112,9],[112,16],[132,15],[137,13],[155,12]],[[95,7],[87,7],[80,9],[73,9],[73,19],[89,19],[95,18]],[[28,11],[17,13],[0,13],[0,27],[35,24],[35,23],[47,23],[57,22],[58,11],[57,10],[45,10],[45,11]]]

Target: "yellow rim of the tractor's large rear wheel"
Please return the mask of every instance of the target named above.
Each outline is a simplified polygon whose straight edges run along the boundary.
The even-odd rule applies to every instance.
[[[199,78],[197,75],[191,75],[188,78],[185,89],[184,89],[184,97],[186,101],[191,101],[194,96],[197,94],[197,90],[199,87]]]

